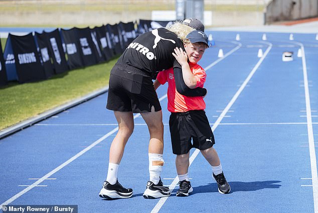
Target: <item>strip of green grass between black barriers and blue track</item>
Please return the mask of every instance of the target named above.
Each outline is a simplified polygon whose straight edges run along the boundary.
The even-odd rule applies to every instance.
[[[68,71],[45,81],[25,84],[11,82],[0,88],[0,129],[107,86],[110,70],[116,61],[117,58]]]

